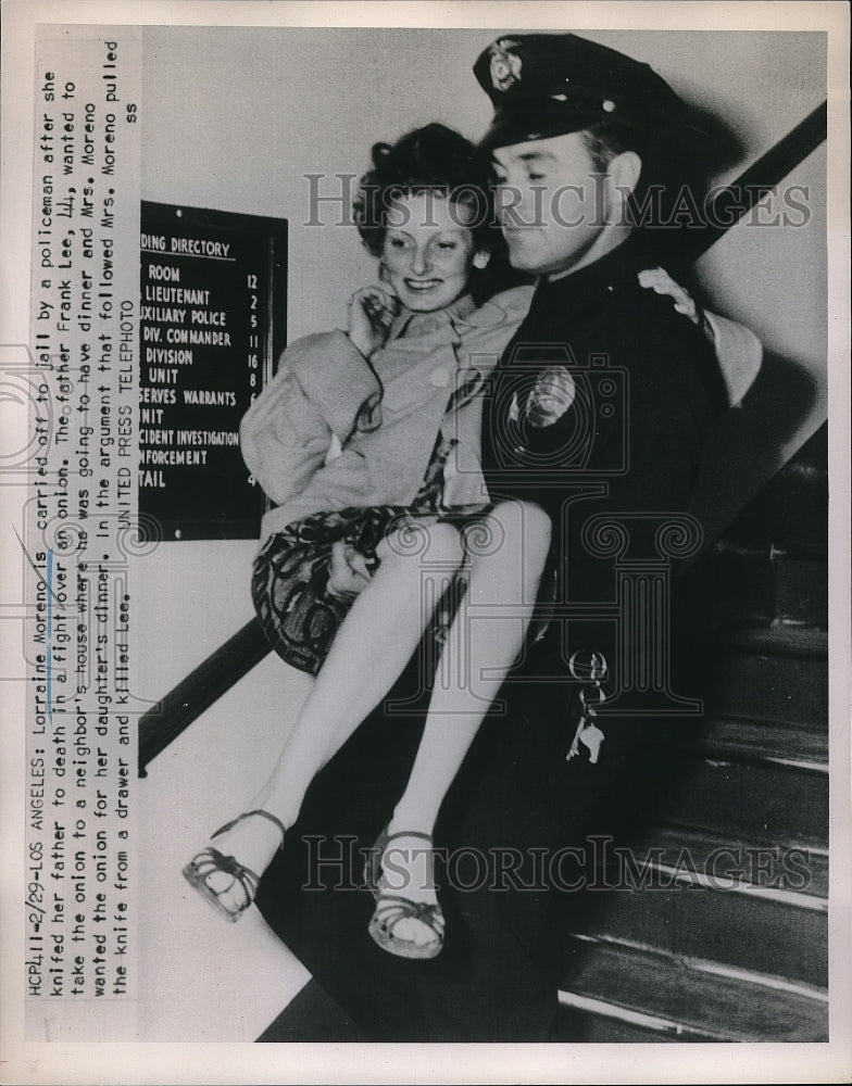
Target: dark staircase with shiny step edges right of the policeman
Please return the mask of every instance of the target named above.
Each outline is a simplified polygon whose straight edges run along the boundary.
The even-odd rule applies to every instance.
[[[573,907],[559,1037],[828,1039],[823,427],[685,580],[700,722],[661,730],[651,818]],[[698,666],[697,666],[698,661]],[[599,843],[604,847],[604,843]],[[601,886],[603,884],[603,886]]]

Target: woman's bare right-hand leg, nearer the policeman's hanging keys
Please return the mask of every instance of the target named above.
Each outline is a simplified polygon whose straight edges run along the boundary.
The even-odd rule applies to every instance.
[[[506,502],[489,519],[502,539],[490,553],[471,557],[467,601],[441,654],[423,738],[390,833],[431,834],[441,801],[526,636],[550,546],[550,518],[538,506]],[[399,837],[389,849],[396,864],[386,874],[391,893],[435,902],[425,843]],[[393,934],[415,943],[434,938],[414,920],[400,920]]]

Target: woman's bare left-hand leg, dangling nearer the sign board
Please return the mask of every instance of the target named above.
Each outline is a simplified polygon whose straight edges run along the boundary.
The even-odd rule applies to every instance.
[[[285,826],[292,825],[318,770],[373,711],[411,659],[464,557],[459,532],[450,525],[418,526],[413,531],[427,533],[425,553],[423,547],[406,553],[412,548],[406,548],[405,541],[391,538],[372,581],[341,623],[268,780],[247,810],[265,810]],[[211,844],[261,874],[280,845],[280,831],[267,819],[246,819]],[[227,894],[230,881],[228,874],[211,876],[211,888]],[[234,887],[233,894],[238,907],[241,892]]]

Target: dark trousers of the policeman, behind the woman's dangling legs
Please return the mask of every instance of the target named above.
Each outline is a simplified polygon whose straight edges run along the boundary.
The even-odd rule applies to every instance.
[[[410,669],[391,697],[404,696],[414,678]],[[361,851],[405,786],[423,712],[378,709],[362,724],[315,779],[264,876],[258,904],[266,921],[369,1040],[549,1038],[561,938],[579,906],[568,888],[575,854],[562,854],[561,866],[554,856],[565,846],[582,849],[590,828],[629,805],[629,792],[613,785],[642,725],[602,723],[599,763],[590,765],[585,747],[566,761],[576,684],[510,681],[502,696],[508,711],[484,722],[436,826],[434,843],[447,861],[437,867],[447,919],[437,958],[396,958],[369,938],[374,901]]]

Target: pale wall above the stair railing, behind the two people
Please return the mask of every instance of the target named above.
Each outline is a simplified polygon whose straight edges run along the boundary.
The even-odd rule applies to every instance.
[[[301,227],[310,217],[304,174],[360,173],[373,141],[428,121],[475,138],[490,106],[471,66],[501,29],[148,27],[142,195],[289,219],[290,338],[341,325],[373,263],[353,227],[331,228],[330,205],[325,226]],[[584,33],[648,61],[727,127],[738,147],[718,180],[737,176],[825,97],[822,34]],[[697,268],[710,303],[754,328],[769,351],[754,395],[714,440],[697,498],[710,531],[825,417],[823,174],[818,151],[790,178],[810,186],[807,226],[740,227]],[[140,628],[156,631],[146,646],[146,693],[164,692],[249,618],[253,551],[251,541],[170,543],[145,560]],[[162,615],[167,623],[158,623]]]

